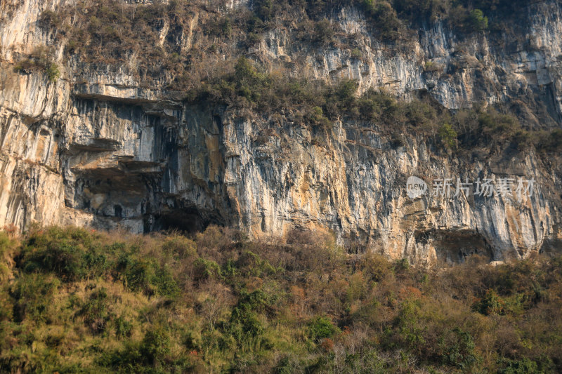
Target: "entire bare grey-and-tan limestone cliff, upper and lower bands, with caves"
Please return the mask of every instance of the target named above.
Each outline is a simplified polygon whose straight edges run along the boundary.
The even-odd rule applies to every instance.
[[[560,248],[559,155],[475,152],[452,159],[421,136],[403,147],[377,126],[336,121],[315,133],[291,112],[263,118],[231,107],[187,104],[126,67],[63,63],[61,78],[14,71],[19,53],[55,43],[37,27],[61,1],[4,1],[0,12],[0,225],[34,221],[134,232],[231,225],[253,235],[330,229],[342,242],[415,263],[525,258]],[[230,7],[247,6],[233,2]],[[197,15],[194,16],[197,22]],[[357,34],[360,58],[339,48],[303,53],[290,30],[273,29],[252,51],[308,76],[353,78],[410,98],[429,92],[456,109],[505,102],[530,127],[562,126],[562,6],[529,6],[521,34],[459,39],[443,23],[406,51],[367,32],[353,8],[332,20]],[[501,40],[499,40],[501,39]],[[185,48],[192,41],[183,40]],[[429,191],[407,196],[417,175]],[[432,196],[439,179],[535,180],[532,196]]]

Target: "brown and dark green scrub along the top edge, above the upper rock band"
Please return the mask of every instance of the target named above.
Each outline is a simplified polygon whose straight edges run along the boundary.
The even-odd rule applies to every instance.
[[[517,3],[521,4],[511,6],[513,1],[506,0],[354,0],[346,5],[363,13],[374,36],[392,42],[414,37],[421,23],[438,18],[460,34],[471,34],[488,29],[488,15],[493,15],[497,22],[492,28],[505,30],[513,25],[505,25],[504,20],[525,5]],[[190,80],[212,74],[209,62],[220,63],[221,52],[231,57],[243,55],[275,27],[291,27],[297,38],[312,46],[332,44],[351,51],[354,36],[329,21],[341,6],[334,0],[256,0],[251,8],[228,8],[223,1],[156,0],[141,6],[121,0],[77,1],[44,11],[39,25],[65,41],[68,55],[78,53],[81,60],[105,63],[126,62],[134,56],[138,60],[135,68],[143,70],[144,76],[157,75],[164,68],[181,84],[190,84]],[[185,48],[185,39],[194,35],[200,43]]]

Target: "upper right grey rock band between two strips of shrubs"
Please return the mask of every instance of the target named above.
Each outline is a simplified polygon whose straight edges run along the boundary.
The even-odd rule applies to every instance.
[[[516,34],[459,35],[436,22],[419,31],[418,41],[388,45],[368,32],[359,11],[344,8],[332,22],[353,38],[354,50],[330,45],[303,51],[290,30],[274,29],[254,53],[269,62],[299,61],[314,78],[357,79],[362,90],[380,87],[406,99],[427,90],[450,109],[516,102],[533,126],[546,121],[559,127],[562,5],[541,1],[522,14],[513,21]],[[537,107],[540,112],[532,113]]]

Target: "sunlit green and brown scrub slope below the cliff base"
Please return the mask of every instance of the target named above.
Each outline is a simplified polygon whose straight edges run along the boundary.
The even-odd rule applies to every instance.
[[[556,373],[562,258],[439,270],[327,234],[0,234],[3,373]]]

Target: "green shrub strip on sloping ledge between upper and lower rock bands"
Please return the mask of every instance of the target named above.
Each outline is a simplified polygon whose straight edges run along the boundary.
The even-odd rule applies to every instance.
[[[186,100],[249,107],[261,114],[292,112],[299,123],[329,133],[332,121],[346,119],[397,138],[403,133],[425,135],[436,149],[448,152],[474,147],[498,146],[541,152],[562,150],[560,131],[528,131],[518,119],[494,108],[450,111],[429,95],[410,102],[397,100],[385,91],[370,89],[358,95],[358,84],[309,81],[268,72],[247,58],[239,58],[232,70],[209,79],[188,93]],[[502,108],[499,108],[502,109]]]

